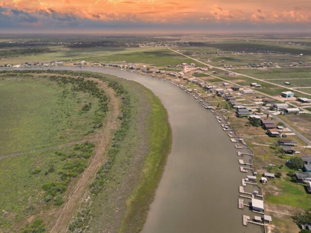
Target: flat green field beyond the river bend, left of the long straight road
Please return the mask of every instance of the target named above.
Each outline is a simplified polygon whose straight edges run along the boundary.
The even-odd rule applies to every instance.
[[[152,51],[142,51],[142,52],[132,52],[132,53],[123,53],[115,54],[108,56],[99,56],[99,57],[85,57],[85,61],[92,62],[132,62],[132,63],[143,63],[152,66],[166,66],[166,65],[177,65],[182,62],[186,63],[196,63],[199,66],[200,63],[194,62],[190,58],[183,57],[178,53],[174,53],[168,49],[156,49]]]

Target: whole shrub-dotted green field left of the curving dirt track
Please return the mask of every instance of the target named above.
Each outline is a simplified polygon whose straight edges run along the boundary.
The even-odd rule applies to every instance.
[[[95,83],[70,77],[2,73],[0,83],[0,105],[6,109],[0,114],[0,227],[19,232],[36,217],[48,220],[64,203],[68,185],[87,167],[95,145],[63,143],[94,135],[107,98]]]

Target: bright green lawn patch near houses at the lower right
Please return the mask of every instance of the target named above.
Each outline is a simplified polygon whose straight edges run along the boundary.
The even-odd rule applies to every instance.
[[[288,178],[275,179],[274,186],[280,189],[280,194],[267,194],[265,200],[273,204],[289,205],[299,208],[306,208],[311,205],[311,196],[303,185],[292,183]]]

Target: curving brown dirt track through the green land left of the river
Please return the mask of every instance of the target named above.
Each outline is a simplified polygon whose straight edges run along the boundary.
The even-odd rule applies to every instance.
[[[88,185],[94,179],[95,174],[99,167],[106,160],[106,151],[113,138],[114,131],[118,128],[120,121],[118,120],[119,114],[119,100],[114,96],[113,89],[107,87],[107,85],[97,79],[89,78],[99,83],[99,87],[103,88],[105,93],[109,95],[109,113],[106,117],[106,124],[104,125],[101,132],[97,135],[100,140],[100,144],[96,147],[95,156],[91,158],[89,166],[82,173],[80,180],[73,186],[69,187],[69,198],[67,203],[62,208],[58,209],[54,216],[56,220],[49,225],[49,232],[64,233],[68,229],[68,225],[72,217],[75,215],[80,203],[83,201],[83,197],[88,192]]]

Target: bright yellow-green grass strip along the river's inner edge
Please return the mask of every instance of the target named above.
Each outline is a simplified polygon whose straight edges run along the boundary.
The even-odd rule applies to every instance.
[[[171,148],[172,135],[167,112],[160,99],[151,95],[151,91],[148,102],[152,106],[151,116],[147,119],[150,151],[146,155],[139,184],[126,202],[127,211],[120,232],[138,232],[142,229]]]

